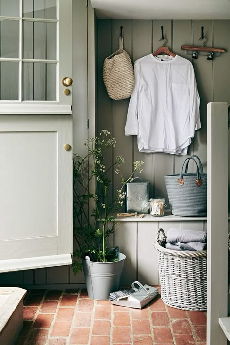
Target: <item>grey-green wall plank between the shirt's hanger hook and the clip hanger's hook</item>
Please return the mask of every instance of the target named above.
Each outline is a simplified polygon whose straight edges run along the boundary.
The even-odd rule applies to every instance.
[[[173,20],[173,52],[192,62],[192,55],[187,55],[181,49],[182,45],[192,44],[192,21],[191,20]],[[193,139],[188,148],[187,155],[174,155],[174,172],[179,173],[183,161],[190,155],[193,155]],[[193,164],[189,164],[189,171],[194,171]]]

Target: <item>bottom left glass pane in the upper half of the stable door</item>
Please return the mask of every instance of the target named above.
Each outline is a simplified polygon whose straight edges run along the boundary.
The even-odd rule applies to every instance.
[[[18,100],[18,62],[0,62],[0,100]]]

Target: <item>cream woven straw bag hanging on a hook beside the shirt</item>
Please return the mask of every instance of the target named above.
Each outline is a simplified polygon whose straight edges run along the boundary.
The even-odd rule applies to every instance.
[[[119,39],[119,49],[104,61],[103,80],[108,95],[113,100],[123,100],[131,96],[134,73],[131,59],[123,49],[123,37]]]

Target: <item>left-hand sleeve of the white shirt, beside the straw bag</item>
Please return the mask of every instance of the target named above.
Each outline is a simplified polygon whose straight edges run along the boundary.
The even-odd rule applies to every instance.
[[[137,118],[137,107],[138,107],[138,92],[139,92],[139,63],[134,63],[134,78],[135,78],[135,85],[132,90],[127,120],[125,125],[125,135],[131,136],[138,134],[139,125],[138,125],[138,118]]]

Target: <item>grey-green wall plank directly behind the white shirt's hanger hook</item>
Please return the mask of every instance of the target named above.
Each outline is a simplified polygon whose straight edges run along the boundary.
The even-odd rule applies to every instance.
[[[161,38],[161,26],[164,29],[164,38],[167,40],[167,47],[172,50],[172,21],[171,20],[153,20],[152,24],[152,44],[153,52],[162,46],[164,41]],[[155,197],[163,197],[166,199],[167,207],[169,207],[167,191],[164,183],[164,175],[173,173],[173,155],[165,153],[156,153],[154,155],[154,189]]]

